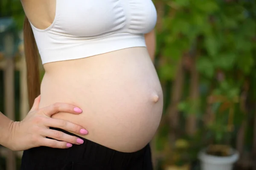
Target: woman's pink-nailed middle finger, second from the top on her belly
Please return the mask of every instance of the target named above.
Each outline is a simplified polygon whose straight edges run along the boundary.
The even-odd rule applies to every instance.
[[[44,124],[47,127],[56,127],[76,134],[87,135],[88,131],[83,127],[62,119],[49,118]]]

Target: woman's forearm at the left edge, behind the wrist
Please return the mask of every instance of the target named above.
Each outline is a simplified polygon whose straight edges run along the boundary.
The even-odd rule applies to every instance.
[[[13,121],[0,112],[0,145],[9,146]]]

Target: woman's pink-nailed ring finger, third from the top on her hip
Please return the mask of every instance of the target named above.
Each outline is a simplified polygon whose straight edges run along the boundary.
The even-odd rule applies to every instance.
[[[56,139],[58,141],[64,141],[71,144],[83,144],[84,140],[76,137],[68,135],[67,133],[61,132],[59,130],[52,130],[52,129],[44,129],[41,131],[41,135],[47,136],[52,139]]]

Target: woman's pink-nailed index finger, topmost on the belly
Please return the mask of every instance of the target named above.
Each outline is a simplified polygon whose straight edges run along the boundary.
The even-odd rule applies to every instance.
[[[66,112],[73,114],[82,113],[82,110],[80,108],[66,103],[55,103],[53,105],[49,105],[45,108],[42,108],[41,111],[43,111],[44,114],[48,117],[51,117],[53,114],[58,112]]]

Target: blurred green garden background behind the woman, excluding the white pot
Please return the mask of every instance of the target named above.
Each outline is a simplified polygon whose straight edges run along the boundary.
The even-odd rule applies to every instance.
[[[236,148],[236,169],[256,169],[256,0],[153,2],[158,14],[154,64],[164,94],[162,121],[151,142],[155,170],[198,170],[198,153],[210,144]],[[0,0],[0,19],[6,17],[19,35],[20,0]],[[1,24],[0,63],[6,65]],[[0,64],[0,111],[6,113],[5,81],[13,79],[14,119],[20,120],[22,67],[16,65],[24,56],[22,40],[15,43],[13,76],[6,78]],[[0,170],[7,170],[8,153],[0,151]],[[15,156],[19,169],[20,156]]]

